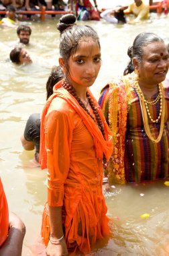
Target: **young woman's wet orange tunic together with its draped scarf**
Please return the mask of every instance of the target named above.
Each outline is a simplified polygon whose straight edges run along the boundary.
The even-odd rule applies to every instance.
[[[103,153],[112,153],[111,131],[93,98],[105,127],[106,140],[95,121],[59,82],[42,113],[40,161],[48,168],[48,204],[42,217],[42,236],[50,234],[48,205],[63,206],[67,247],[91,251],[97,239],[109,234],[102,193]],[[59,88],[59,89],[58,89]],[[91,97],[93,97],[91,95]]]

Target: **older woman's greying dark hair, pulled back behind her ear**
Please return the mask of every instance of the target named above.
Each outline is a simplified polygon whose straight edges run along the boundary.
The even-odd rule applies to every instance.
[[[130,46],[127,51],[130,61],[125,68],[123,75],[127,75],[134,71],[133,58],[135,57],[139,62],[141,62],[144,55],[144,47],[148,44],[152,44],[153,42],[164,42],[164,40],[154,33],[140,33],[135,37],[133,45]]]

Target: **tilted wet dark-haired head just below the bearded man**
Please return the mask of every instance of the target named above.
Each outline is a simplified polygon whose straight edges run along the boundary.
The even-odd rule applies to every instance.
[[[25,49],[22,49],[21,47],[15,47],[9,56],[11,61],[17,65],[27,65],[32,63],[30,55],[25,51]]]

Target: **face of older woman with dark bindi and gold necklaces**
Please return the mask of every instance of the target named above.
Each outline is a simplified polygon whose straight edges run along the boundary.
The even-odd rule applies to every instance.
[[[156,85],[164,81],[168,72],[168,51],[164,42],[152,42],[144,46],[142,61],[137,63],[139,81]]]

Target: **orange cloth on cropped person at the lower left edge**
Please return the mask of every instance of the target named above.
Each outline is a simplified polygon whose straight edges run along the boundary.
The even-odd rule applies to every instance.
[[[9,214],[7,199],[3,191],[3,185],[0,178],[0,247],[5,242],[8,234]]]

